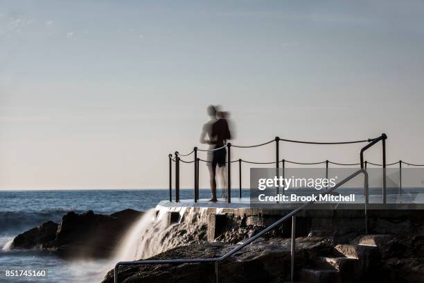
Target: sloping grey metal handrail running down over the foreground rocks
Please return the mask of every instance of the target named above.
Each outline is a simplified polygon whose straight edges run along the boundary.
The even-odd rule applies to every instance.
[[[369,202],[369,196],[368,196],[368,173],[364,169],[360,169],[356,171],[355,173],[349,175],[344,180],[337,183],[333,188],[328,189],[327,191],[324,191],[321,196],[324,196],[326,194],[330,194],[332,191],[337,189],[338,187],[344,185],[349,180],[355,178],[360,173],[364,174],[364,194],[365,194],[365,233],[368,233],[368,216],[366,213],[368,202]],[[315,203],[315,200],[310,200],[308,203],[304,203],[303,205],[297,207],[297,209],[294,209],[289,214],[283,216],[283,218],[279,219],[279,221],[276,221],[272,223],[272,225],[268,226],[264,230],[258,232],[258,234],[254,235],[253,237],[250,237],[246,241],[244,241],[240,246],[237,246],[236,248],[233,248],[229,252],[227,252],[225,255],[222,255],[221,257],[211,257],[206,259],[146,259],[146,260],[138,260],[138,261],[119,261],[115,267],[114,267],[114,283],[118,283],[118,268],[119,266],[128,266],[128,265],[143,265],[143,264],[183,264],[183,263],[197,263],[197,262],[214,262],[215,263],[215,275],[216,275],[216,282],[218,283],[218,262],[223,261],[224,259],[227,259],[227,257],[230,257],[231,255],[234,255],[236,252],[244,248],[245,246],[249,245],[249,243],[255,241],[259,237],[261,237],[263,234],[269,232],[270,230],[276,228],[276,226],[281,225],[284,221],[286,221],[288,218],[292,217],[292,258],[291,258],[291,273],[290,277],[293,281],[293,270],[294,270],[294,245],[296,241],[296,228],[295,228],[295,217],[296,215],[301,212],[303,209],[306,209],[309,205],[312,205],[312,203]]]

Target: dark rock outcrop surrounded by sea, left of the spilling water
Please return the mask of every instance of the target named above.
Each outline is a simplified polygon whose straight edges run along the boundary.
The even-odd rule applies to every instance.
[[[18,235],[14,248],[55,251],[64,257],[107,258],[112,255],[127,229],[143,213],[125,209],[114,214],[69,212],[59,224],[48,221]]]

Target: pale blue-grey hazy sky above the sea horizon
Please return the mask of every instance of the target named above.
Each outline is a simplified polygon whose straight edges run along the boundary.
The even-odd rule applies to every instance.
[[[168,153],[205,147],[211,104],[233,144],[385,132],[388,162],[424,163],[423,15],[422,0],[0,0],[0,189],[167,188]],[[360,147],[280,152],[358,162]],[[233,157],[272,161],[274,146]]]

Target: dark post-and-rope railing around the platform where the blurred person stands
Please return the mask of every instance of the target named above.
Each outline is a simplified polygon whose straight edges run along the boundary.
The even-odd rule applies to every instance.
[[[385,140],[387,139],[387,135],[382,134],[379,137],[373,138],[373,139],[360,139],[360,140],[355,140],[355,141],[301,141],[301,140],[295,140],[295,139],[281,139],[280,137],[275,137],[272,140],[269,141],[265,141],[261,144],[254,144],[251,146],[242,146],[242,145],[237,145],[237,144],[231,144],[231,143],[227,143],[223,146],[220,146],[219,148],[209,148],[209,149],[202,149],[202,148],[197,148],[194,147],[193,151],[191,151],[190,153],[187,154],[179,154],[177,151],[175,152],[175,156],[173,157],[173,155],[169,155],[169,164],[170,164],[170,170],[169,170],[169,189],[170,189],[170,201],[172,201],[172,194],[171,194],[171,190],[172,190],[172,163],[175,163],[175,200],[177,202],[179,202],[179,163],[180,161],[182,163],[186,163],[186,164],[194,164],[194,188],[195,188],[195,202],[197,202],[198,196],[199,196],[199,164],[200,162],[206,162],[206,163],[212,163],[210,160],[203,160],[199,157],[197,157],[197,153],[198,152],[213,152],[213,151],[219,151],[223,148],[227,149],[227,162],[225,162],[224,164],[227,164],[227,201],[228,203],[231,203],[231,164],[234,162],[238,162],[238,169],[239,169],[239,182],[240,182],[240,186],[239,186],[239,197],[241,198],[241,191],[242,191],[242,185],[241,185],[241,168],[242,168],[242,163],[247,163],[247,164],[275,164],[275,168],[279,169],[279,166],[281,164],[281,162],[283,163],[283,169],[285,169],[285,163],[288,164],[299,164],[299,165],[318,165],[318,164],[326,164],[326,177],[328,177],[328,170],[329,170],[329,164],[335,164],[335,165],[339,165],[339,166],[357,166],[360,165],[361,169],[366,168],[367,164],[371,164],[371,165],[376,165],[376,166],[382,166],[383,168],[383,175],[385,175],[385,169],[386,166],[390,166],[390,165],[394,165],[394,164],[400,164],[400,167],[402,166],[402,162],[394,162],[391,164],[387,164],[386,163],[386,146],[385,146]],[[248,160],[242,160],[241,158],[238,160],[231,160],[231,147],[235,147],[235,148],[256,148],[259,146],[265,146],[267,144],[271,144],[272,142],[275,141],[275,159],[273,162],[256,162],[256,161],[248,161]],[[366,144],[366,146],[362,147],[361,151],[360,151],[360,163],[340,163],[340,162],[334,162],[334,161],[330,161],[330,160],[325,160],[322,162],[297,162],[297,161],[291,161],[291,160],[281,160],[280,158],[280,153],[279,153],[279,141],[285,141],[285,142],[291,142],[291,143],[297,143],[297,144],[318,144],[318,145],[337,145],[337,144],[359,144],[359,143],[364,143],[364,142],[368,142],[368,144]],[[371,146],[377,144],[379,141],[382,141],[382,164],[377,164],[377,163],[373,163],[373,162],[364,162],[364,151],[366,151],[368,148],[371,148]],[[194,158],[191,161],[188,160],[182,160],[181,157],[186,157],[189,155],[192,155],[194,153]],[[412,166],[424,166],[423,165],[418,165],[418,164],[412,164],[412,163],[408,163],[408,162],[404,162],[405,164],[409,164]],[[385,183],[385,178],[383,178],[383,195],[385,196],[385,191],[386,191],[386,183]],[[279,188],[276,188],[276,194],[279,194]],[[384,203],[385,203],[385,199],[384,199]]]

